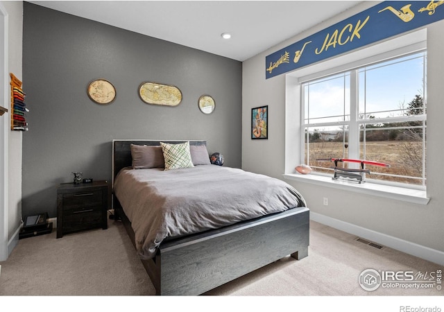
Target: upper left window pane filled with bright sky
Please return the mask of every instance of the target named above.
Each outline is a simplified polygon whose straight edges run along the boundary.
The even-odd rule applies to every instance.
[[[316,80],[305,87],[305,123],[345,121],[350,115],[350,74]]]

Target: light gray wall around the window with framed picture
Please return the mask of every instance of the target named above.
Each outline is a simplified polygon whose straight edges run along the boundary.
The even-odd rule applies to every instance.
[[[266,80],[266,55],[377,3],[379,2],[365,1],[334,19],[325,21],[244,62],[242,99],[242,168],[244,170],[281,179],[282,174],[285,173],[286,75],[282,74]],[[444,62],[440,60],[444,53],[444,43],[441,39],[443,30],[444,21],[427,26],[427,196],[431,198],[428,205],[416,205],[304,182],[287,181],[302,193],[309,209],[318,215],[357,225],[370,232],[375,231],[382,236],[399,239],[400,242],[407,241],[423,249],[431,248],[438,255],[444,252],[444,192],[442,191],[444,143],[441,135],[444,133],[442,122],[444,105],[443,97],[440,95],[444,78]],[[251,108],[260,105],[268,105],[268,140],[250,139]],[[296,110],[299,110],[299,107]],[[287,119],[291,120],[288,117]],[[287,128],[291,128],[288,121]],[[328,206],[323,206],[323,197],[329,198]]]

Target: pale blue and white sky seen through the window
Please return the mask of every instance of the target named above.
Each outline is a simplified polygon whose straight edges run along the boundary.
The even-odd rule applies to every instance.
[[[403,62],[400,62],[403,60]],[[424,96],[422,76],[423,76],[423,58],[412,55],[400,60],[391,61],[382,66],[375,64],[369,66],[366,70],[359,73],[359,112],[367,114],[373,112],[382,112],[373,114],[375,117],[386,118],[388,116],[399,116],[402,112],[384,112],[388,110],[400,110],[404,103],[413,100],[416,94]],[[350,101],[349,87],[344,89],[344,83],[350,83],[350,76],[341,75],[336,78],[326,78],[321,83],[310,85],[309,103],[310,118],[319,116],[337,116],[344,113],[349,114],[348,105]],[[365,101],[364,101],[365,100]],[[323,121],[340,121],[340,117],[325,119]],[[314,120],[313,122],[320,122]]]

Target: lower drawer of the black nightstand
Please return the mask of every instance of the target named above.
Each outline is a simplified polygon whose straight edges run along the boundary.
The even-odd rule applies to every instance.
[[[63,230],[74,232],[80,229],[91,229],[101,227],[103,222],[102,210],[85,209],[74,214],[65,214],[63,216]]]

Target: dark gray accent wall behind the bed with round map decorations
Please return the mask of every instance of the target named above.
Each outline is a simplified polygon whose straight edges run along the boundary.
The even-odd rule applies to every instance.
[[[122,17],[130,18],[130,17]],[[168,27],[168,25],[165,25]],[[86,93],[96,78],[117,90],[108,105]],[[182,92],[176,107],[149,105],[151,81]],[[24,2],[22,213],[56,216],[58,184],[112,177],[113,139],[201,139],[225,166],[241,167],[242,63]],[[198,110],[210,94],[212,114]]]

